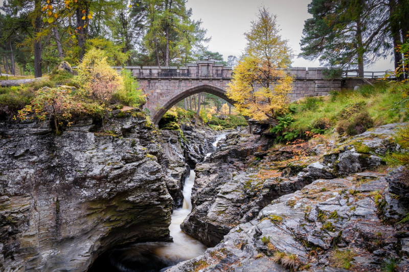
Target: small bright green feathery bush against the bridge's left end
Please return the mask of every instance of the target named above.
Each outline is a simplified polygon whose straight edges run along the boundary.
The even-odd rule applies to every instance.
[[[131,107],[142,107],[146,103],[146,96],[139,87],[138,81],[133,78],[129,70],[123,69],[121,75],[123,87],[112,94],[112,100]]]

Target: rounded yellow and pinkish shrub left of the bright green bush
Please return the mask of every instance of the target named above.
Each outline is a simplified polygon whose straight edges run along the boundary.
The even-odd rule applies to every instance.
[[[112,94],[123,87],[120,75],[109,67],[102,50],[89,50],[78,65],[78,77],[85,95],[108,104]]]

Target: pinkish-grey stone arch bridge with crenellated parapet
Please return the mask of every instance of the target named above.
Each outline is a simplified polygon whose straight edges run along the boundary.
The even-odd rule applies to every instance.
[[[113,66],[118,72],[122,66]],[[225,95],[227,84],[232,79],[232,67],[216,64],[214,61],[197,61],[176,66],[125,66],[137,78],[147,94],[145,108],[150,111],[152,122],[157,125],[166,111],[180,100],[198,93],[216,95],[231,104],[234,101]],[[327,68],[292,67],[287,73],[294,76],[290,99],[297,100],[305,96],[328,95],[331,90],[353,87],[362,80],[347,78],[326,80],[322,71]]]

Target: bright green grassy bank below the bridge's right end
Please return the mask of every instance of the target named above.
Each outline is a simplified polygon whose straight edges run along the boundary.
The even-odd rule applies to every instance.
[[[343,90],[332,92],[326,97],[307,97],[290,105],[295,121],[289,130],[310,131],[314,128],[314,123],[320,123],[324,119],[330,125],[328,129],[332,129],[351,105],[359,103],[368,111],[374,126],[407,121],[408,117],[403,112],[393,110],[400,99],[401,93],[395,87],[382,82],[375,87],[361,86],[357,91]]]

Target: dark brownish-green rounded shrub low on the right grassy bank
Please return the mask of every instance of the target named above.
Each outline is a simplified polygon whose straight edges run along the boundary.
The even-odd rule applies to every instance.
[[[363,110],[347,120],[340,120],[335,129],[340,134],[347,133],[352,136],[367,131],[373,125],[374,121],[369,116],[368,111]]]

